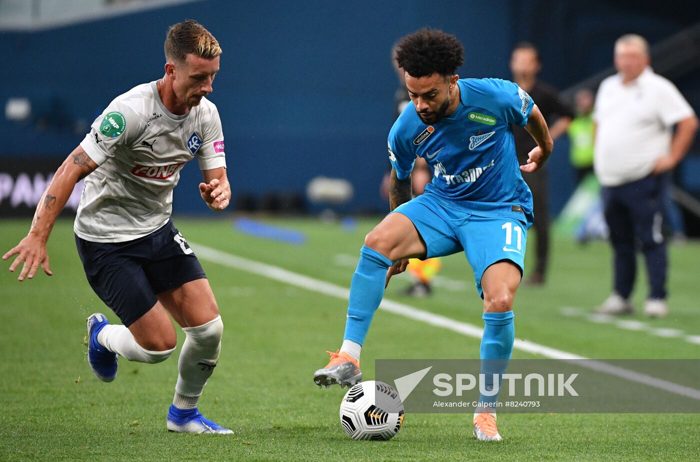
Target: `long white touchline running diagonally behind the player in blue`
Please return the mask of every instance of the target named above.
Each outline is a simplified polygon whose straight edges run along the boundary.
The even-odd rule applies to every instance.
[[[269,279],[283,282],[285,284],[302,287],[302,289],[308,289],[310,291],[318,292],[319,294],[342,298],[344,300],[347,300],[350,296],[349,289],[340,287],[339,285],[332,284],[330,282],[293,273],[292,271],[279,268],[279,266],[268,265],[260,263],[259,261],[238,257],[237,255],[227,254],[226,252],[221,252],[220,250],[207,247],[206,245],[193,243],[191,241],[188,241],[188,243],[190,244],[190,247],[195,248],[197,257],[204,260],[209,260],[223,266],[228,266],[229,268],[236,268],[237,270],[245,271],[246,273],[253,273],[262,277],[268,277]],[[381,301],[379,308],[384,311],[392,312],[395,315],[421,321],[426,324],[430,324],[430,326],[442,327],[443,329],[461,333],[468,337],[480,339],[482,338],[482,333],[484,331],[484,329],[472,324],[457,321],[456,319],[451,319],[442,315],[436,315],[435,313],[428,311],[419,310],[418,308],[413,308],[412,306],[405,305],[404,303],[387,300],[386,298]],[[684,387],[673,382],[668,382],[667,380],[652,377],[651,375],[637,373],[633,370],[612,366],[612,364],[608,364],[603,361],[596,361],[577,354],[564,352],[561,349],[545,347],[544,345],[539,345],[535,342],[518,339],[515,340],[513,347],[523,352],[538,354],[551,359],[559,359],[561,361],[577,364],[598,372],[604,372],[617,377],[622,377],[626,380],[630,380],[631,382],[638,382],[649,387],[669,391],[680,396],[686,396],[687,398],[700,400],[700,390]],[[586,359],[587,361],[581,363],[576,362],[576,360],[581,359]]]

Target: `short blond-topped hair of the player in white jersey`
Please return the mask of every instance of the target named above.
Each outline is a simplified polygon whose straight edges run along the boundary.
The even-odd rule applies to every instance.
[[[165,36],[165,59],[183,64],[187,55],[214,59],[221,55],[221,47],[204,26],[195,20],[173,24]]]

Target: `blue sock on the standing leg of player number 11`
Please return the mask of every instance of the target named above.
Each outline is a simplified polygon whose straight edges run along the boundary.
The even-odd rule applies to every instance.
[[[500,375],[505,373],[513,352],[515,328],[513,312],[484,313],[484,335],[479,349],[481,373],[486,375],[486,390],[493,389],[493,374],[498,374],[498,391],[500,392]],[[479,394],[480,403],[496,403],[498,393],[493,396]]]

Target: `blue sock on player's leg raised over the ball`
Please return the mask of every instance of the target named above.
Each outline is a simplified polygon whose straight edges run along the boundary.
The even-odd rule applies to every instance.
[[[352,340],[360,345],[365,342],[374,312],[379,308],[381,298],[384,296],[386,270],[391,265],[393,261],[376,250],[366,245],[360,249],[360,261],[350,283],[345,340]]]

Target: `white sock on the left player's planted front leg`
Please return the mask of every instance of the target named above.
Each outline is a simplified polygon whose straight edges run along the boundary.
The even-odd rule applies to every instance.
[[[183,327],[187,337],[178,360],[179,375],[173,404],[180,409],[197,407],[204,385],[214,372],[219,352],[223,322],[221,316],[196,327]]]

